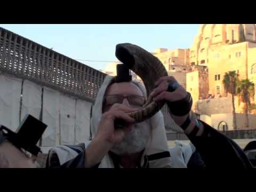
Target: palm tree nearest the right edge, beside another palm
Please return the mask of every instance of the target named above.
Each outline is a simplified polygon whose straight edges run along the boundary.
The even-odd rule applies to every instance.
[[[248,106],[251,105],[251,98],[254,97],[254,84],[249,79],[243,79],[237,82],[236,92],[244,103],[243,112],[245,114],[245,127],[249,128]]]

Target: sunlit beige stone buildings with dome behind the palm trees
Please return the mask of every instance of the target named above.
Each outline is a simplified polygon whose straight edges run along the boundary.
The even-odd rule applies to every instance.
[[[231,97],[226,95],[222,84],[225,73],[235,70],[239,79],[249,78],[256,85],[255,24],[204,24],[199,27],[189,49],[158,48],[152,54],[163,63],[169,75],[174,76],[191,93],[193,110],[201,115],[207,110],[214,111],[209,118],[213,118],[215,114],[231,113]],[[115,65],[110,63],[105,71],[115,75]],[[134,78],[140,79],[135,75]],[[223,103],[224,100],[226,103]],[[210,101],[214,103],[213,106],[209,104],[212,107],[202,107],[207,106]],[[242,113],[243,104],[238,105],[238,98],[235,98],[235,106],[236,113]],[[217,116],[212,122],[218,119]],[[210,121],[209,118],[207,121]],[[231,117],[220,115],[220,118]],[[254,122],[254,117],[250,118]]]

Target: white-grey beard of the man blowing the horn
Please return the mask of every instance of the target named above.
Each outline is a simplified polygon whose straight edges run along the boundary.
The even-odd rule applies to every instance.
[[[142,151],[146,147],[150,136],[149,121],[135,124],[132,131],[118,144],[114,145],[110,151],[117,155],[129,155]]]

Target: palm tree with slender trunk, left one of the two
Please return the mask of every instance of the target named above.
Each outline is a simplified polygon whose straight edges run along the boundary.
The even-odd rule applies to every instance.
[[[235,95],[236,95],[237,81],[238,81],[238,74],[236,74],[236,71],[228,71],[228,73],[225,73],[223,80],[222,80],[226,94],[230,93],[232,96],[232,113],[233,113],[234,130],[237,130],[236,109],[235,109]]]

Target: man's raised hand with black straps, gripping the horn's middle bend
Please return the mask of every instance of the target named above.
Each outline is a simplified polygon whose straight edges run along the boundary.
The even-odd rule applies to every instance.
[[[156,88],[151,93],[153,100],[173,102],[186,98],[188,93],[181,85],[178,85],[177,89],[173,92],[167,91],[169,83],[172,82],[177,82],[176,79],[172,76],[160,77],[155,83]],[[178,125],[182,125],[188,117],[188,114],[184,116],[175,116],[170,113],[170,115]]]

